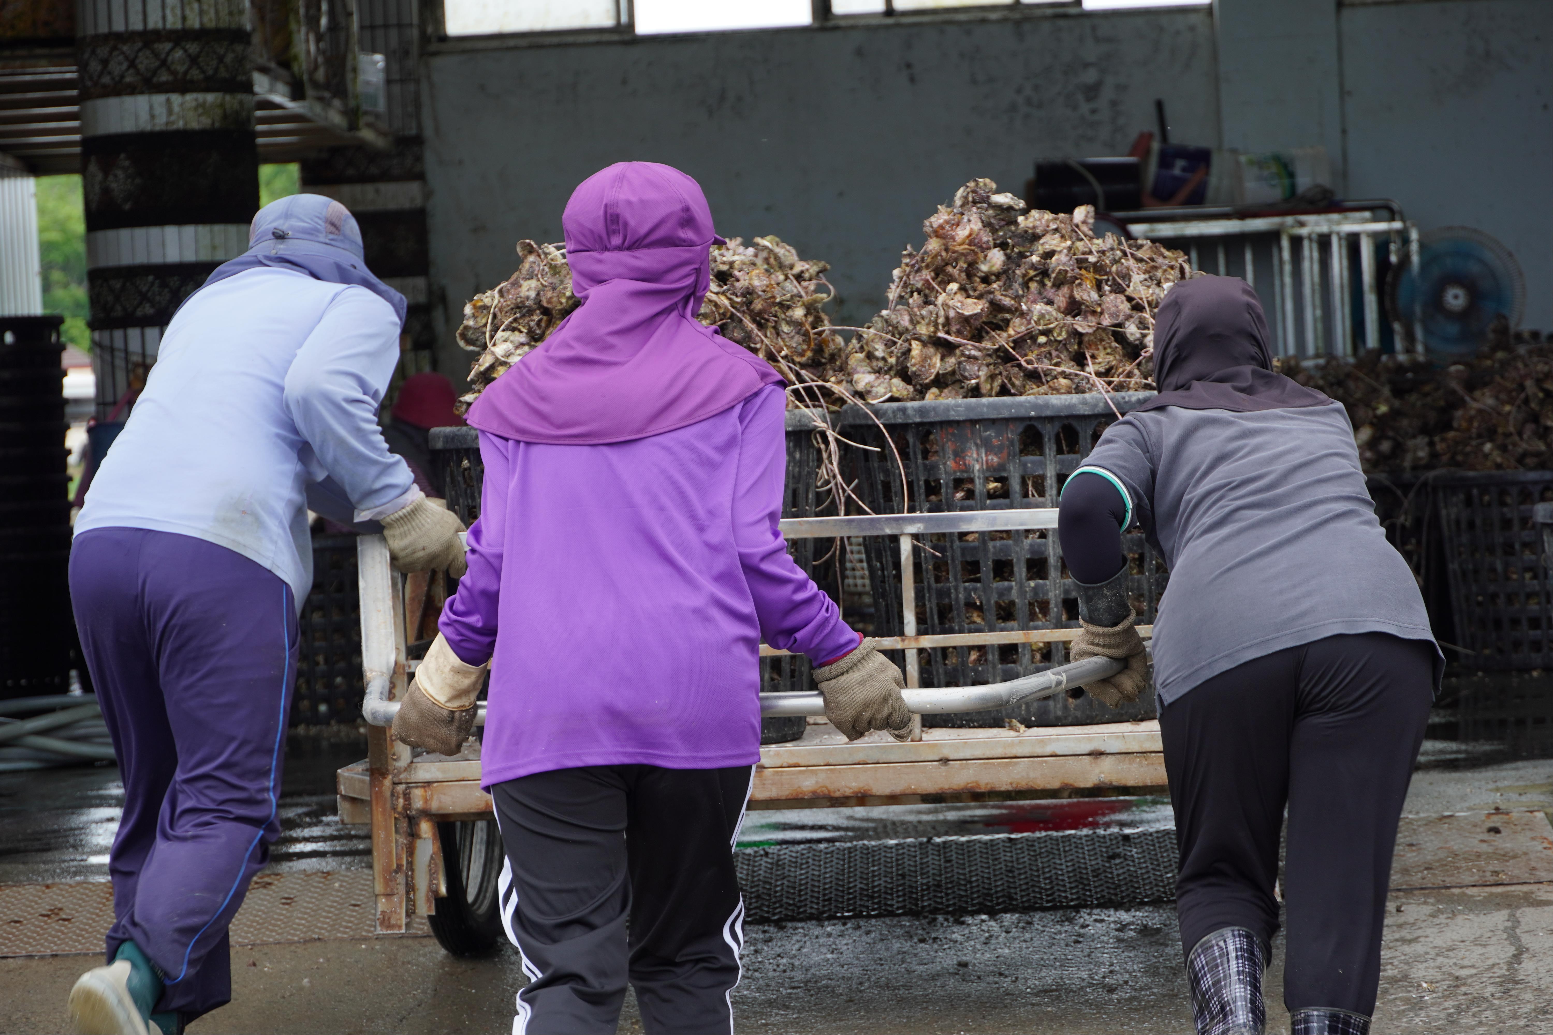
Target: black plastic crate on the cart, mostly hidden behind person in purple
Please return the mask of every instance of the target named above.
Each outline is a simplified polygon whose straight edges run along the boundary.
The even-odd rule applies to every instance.
[[[815,436],[823,436],[823,416],[806,410],[787,411],[787,478],[783,492],[783,517],[815,517],[834,514],[834,501],[822,495],[822,448]],[[447,507],[464,524],[480,517],[480,486],[485,466],[480,462],[478,433],[475,428],[432,428],[433,462],[443,464],[447,484]],[[839,596],[837,557],[831,556],[829,540],[792,540],[787,551],[811,579],[829,593]],[[828,588],[829,587],[829,588]],[[761,691],[767,694],[797,692],[809,689],[809,659],[804,656],[761,658]],[[786,743],[803,736],[801,715],[763,718],[761,743]]]

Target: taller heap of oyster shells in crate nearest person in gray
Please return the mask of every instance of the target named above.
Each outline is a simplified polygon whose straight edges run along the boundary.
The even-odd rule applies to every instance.
[[[1096,236],[1093,219],[966,183],[848,343],[848,386],[867,402],[1152,388],[1154,313],[1193,270],[1159,244]]]

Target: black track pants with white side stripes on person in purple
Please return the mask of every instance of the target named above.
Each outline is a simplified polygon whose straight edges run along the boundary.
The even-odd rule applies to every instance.
[[[752,767],[592,765],[491,787],[502,919],[530,984],[514,1032],[731,1032],[744,900],[733,844]]]

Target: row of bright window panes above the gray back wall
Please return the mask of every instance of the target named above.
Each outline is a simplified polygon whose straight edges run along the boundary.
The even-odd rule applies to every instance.
[[[1210,0],[1081,0],[1086,11],[1205,5]],[[1078,6],[1078,0],[443,0],[447,36],[509,33],[717,33],[814,20],[981,8]]]

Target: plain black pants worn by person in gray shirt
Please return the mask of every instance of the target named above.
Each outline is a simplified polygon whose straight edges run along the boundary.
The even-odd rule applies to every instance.
[[[1284,1006],[1374,1013],[1396,824],[1433,661],[1418,639],[1328,636],[1253,658],[1160,712],[1188,953],[1222,928],[1264,943],[1278,931],[1287,804]]]

